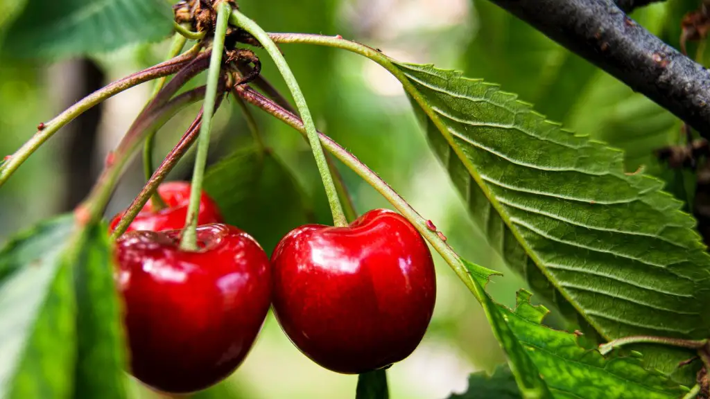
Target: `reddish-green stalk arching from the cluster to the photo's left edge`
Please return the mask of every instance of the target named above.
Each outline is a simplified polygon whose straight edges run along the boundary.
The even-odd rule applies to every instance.
[[[41,124],[41,128],[21,146],[10,158],[0,167],[0,186],[3,185],[10,176],[30,157],[45,141],[54,135],[59,129],[73,121],[77,116],[80,116],[88,109],[103,102],[104,100],[113,97],[126,89],[137,86],[143,82],[157,79],[158,77],[173,75],[178,72],[186,62],[193,57],[192,53],[185,53],[179,57],[173,58],[166,62],[149,67],[141,72],[136,72],[132,75],[124,77],[121,80],[111,82],[106,87],[89,94],[76,104],[70,106],[64,112],[55,116],[54,119],[47,123]]]

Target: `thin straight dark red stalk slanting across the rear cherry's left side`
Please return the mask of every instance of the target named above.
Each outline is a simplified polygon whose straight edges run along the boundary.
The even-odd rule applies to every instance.
[[[204,90],[205,87],[200,87],[199,88],[202,91],[202,97],[204,97]],[[223,97],[217,97],[217,106],[219,106],[219,102],[221,102]],[[119,224],[116,226],[116,229],[114,229],[114,232],[111,233],[111,238],[112,239],[118,239],[122,234],[126,232],[126,229],[129,228],[131,225],[131,222],[133,222],[133,219],[136,219],[136,215],[138,215],[138,212],[141,212],[141,209],[146,206],[146,203],[148,202],[149,199],[151,199],[151,195],[155,193],[158,189],[158,185],[165,180],[165,177],[170,173],[173,168],[175,168],[175,165],[177,165],[178,161],[182,158],[185,153],[187,153],[187,150],[190,149],[190,146],[192,146],[192,143],[195,142],[195,139],[197,138],[197,133],[200,132],[200,124],[202,124],[202,113],[203,111],[200,110],[200,113],[197,114],[195,117],[195,120],[192,121],[192,124],[190,124],[190,127],[185,131],[185,134],[180,138],[180,141],[178,141],[177,144],[175,144],[175,147],[173,147],[173,150],[168,153],[168,156],[165,157],[162,163],[158,166],[157,169],[155,169],[155,172],[153,175],[151,175],[151,178],[148,179],[148,183],[146,183],[146,186],[143,187],[143,190],[141,190],[140,193],[138,193],[138,196],[131,202],[131,206],[126,209],[126,212],[124,215],[121,217],[121,221]]]

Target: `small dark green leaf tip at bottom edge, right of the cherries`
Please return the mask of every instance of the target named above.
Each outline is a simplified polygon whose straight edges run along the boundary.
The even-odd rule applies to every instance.
[[[448,399],[519,399],[520,390],[515,385],[515,377],[506,366],[498,366],[491,376],[485,371],[469,376],[466,392],[452,393]]]

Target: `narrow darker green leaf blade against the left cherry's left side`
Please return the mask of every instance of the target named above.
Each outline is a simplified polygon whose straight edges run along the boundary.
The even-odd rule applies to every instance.
[[[65,263],[77,297],[76,398],[126,398],[125,346],[107,226],[84,227]]]

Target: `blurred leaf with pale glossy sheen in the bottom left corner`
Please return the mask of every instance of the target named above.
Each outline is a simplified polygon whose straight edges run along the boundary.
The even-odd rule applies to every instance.
[[[67,398],[74,384],[75,296],[61,263],[72,215],[43,222],[0,251],[0,397]]]

